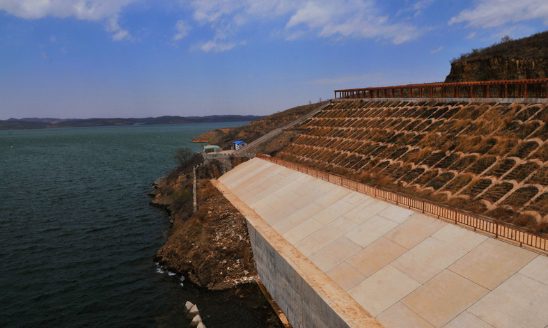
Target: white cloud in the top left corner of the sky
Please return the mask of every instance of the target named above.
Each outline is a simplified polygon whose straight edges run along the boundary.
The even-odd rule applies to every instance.
[[[120,27],[120,10],[136,0],[0,0],[0,10],[24,19],[76,17],[93,22],[104,21],[112,39],[132,40],[130,32]]]

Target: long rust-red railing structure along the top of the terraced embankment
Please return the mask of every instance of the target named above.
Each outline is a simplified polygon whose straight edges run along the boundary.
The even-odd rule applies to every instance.
[[[335,98],[338,99],[547,97],[548,79],[408,84],[335,91]]]

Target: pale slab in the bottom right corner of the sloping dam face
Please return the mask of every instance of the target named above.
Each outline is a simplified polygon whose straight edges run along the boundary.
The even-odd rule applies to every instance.
[[[548,286],[515,274],[468,310],[496,328],[545,328]]]

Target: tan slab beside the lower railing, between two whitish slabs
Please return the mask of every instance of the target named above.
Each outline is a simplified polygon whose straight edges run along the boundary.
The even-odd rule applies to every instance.
[[[386,233],[384,237],[406,249],[412,249],[445,225],[444,221],[415,213],[400,226]]]

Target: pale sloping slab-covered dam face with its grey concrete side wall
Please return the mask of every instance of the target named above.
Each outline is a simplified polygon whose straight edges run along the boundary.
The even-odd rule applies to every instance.
[[[428,115],[415,124],[435,123]],[[297,140],[290,154],[302,145],[304,139]],[[314,152],[301,149],[295,156],[312,160]],[[456,151],[446,150],[445,156]],[[341,155],[331,162],[340,163]],[[260,279],[293,327],[548,325],[545,255],[263,159],[236,166],[214,184],[246,217]]]

